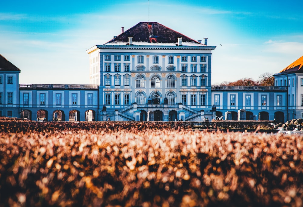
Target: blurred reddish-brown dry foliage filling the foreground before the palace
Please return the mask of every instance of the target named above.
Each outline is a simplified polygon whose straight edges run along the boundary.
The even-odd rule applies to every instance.
[[[0,206],[303,206],[299,135],[0,119]]]

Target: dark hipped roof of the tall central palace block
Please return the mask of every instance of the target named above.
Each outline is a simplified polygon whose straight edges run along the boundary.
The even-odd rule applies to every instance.
[[[158,22],[139,22],[132,28],[126,30],[114,39],[105,44],[127,42],[128,37],[133,37],[133,42],[147,42],[147,43],[178,43],[178,37],[182,37],[182,42],[198,43],[184,34],[176,32],[168,27],[165,27]]]

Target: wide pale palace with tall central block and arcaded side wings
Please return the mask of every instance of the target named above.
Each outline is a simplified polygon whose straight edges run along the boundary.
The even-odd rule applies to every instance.
[[[302,65],[275,74],[275,86],[211,86],[216,47],[207,40],[157,22],[122,27],[112,40],[86,50],[87,85],[19,84],[21,70],[0,56],[0,115],[37,121],[302,118],[296,113],[303,113]]]

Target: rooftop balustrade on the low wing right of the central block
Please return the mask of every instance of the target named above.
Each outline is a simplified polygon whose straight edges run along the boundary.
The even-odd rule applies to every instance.
[[[287,86],[211,86],[212,91],[287,91]]]

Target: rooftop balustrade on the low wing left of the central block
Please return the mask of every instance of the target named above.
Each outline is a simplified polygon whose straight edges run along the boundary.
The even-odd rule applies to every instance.
[[[98,89],[98,85],[92,84],[19,84],[20,89]]]

